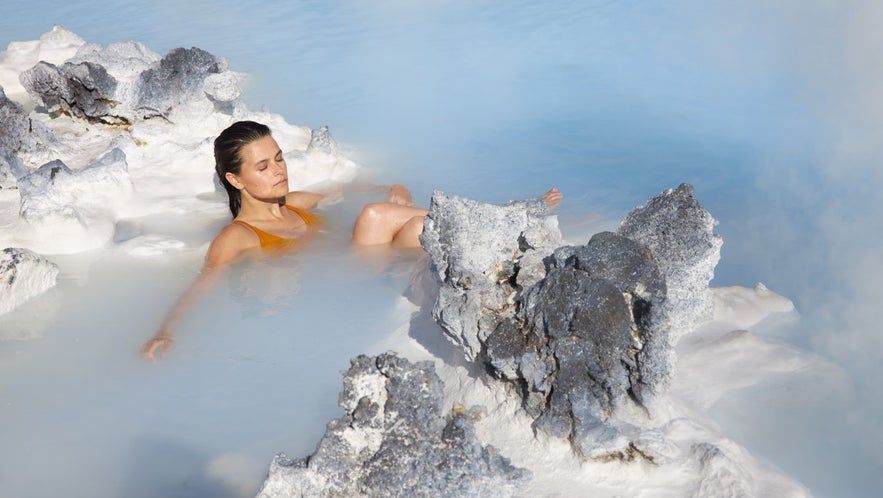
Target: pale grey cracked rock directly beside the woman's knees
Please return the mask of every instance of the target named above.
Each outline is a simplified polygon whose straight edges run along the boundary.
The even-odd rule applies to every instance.
[[[440,283],[433,317],[474,360],[514,315],[510,298],[543,277],[542,259],[561,245],[561,232],[540,199],[496,206],[436,191],[420,241]]]

